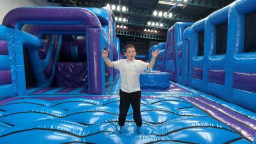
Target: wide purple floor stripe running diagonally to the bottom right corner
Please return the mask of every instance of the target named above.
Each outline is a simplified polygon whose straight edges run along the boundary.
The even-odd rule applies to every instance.
[[[186,99],[187,101],[193,103],[196,107],[202,109],[205,111],[205,113],[211,115],[212,117],[218,119],[221,123],[225,123],[231,129],[242,135],[247,140],[253,141],[254,137],[254,130],[252,130],[250,127],[247,127],[239,122],[237,122],[235,119],[230,118],[229,116],[221,113],[220,111],[205,105],[203,102],[200,102],[193,97],[182,97],[183,99]]]

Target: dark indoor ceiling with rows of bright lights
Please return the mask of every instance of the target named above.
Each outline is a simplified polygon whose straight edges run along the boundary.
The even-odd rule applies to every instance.
[[[234,0],[47,0],[62,6],[110,7],[117,35],[165,41],[175,22],[195,22]],[[174,6],[176,4],[176,6]],[[177,5],[178,4],[178,5]]]

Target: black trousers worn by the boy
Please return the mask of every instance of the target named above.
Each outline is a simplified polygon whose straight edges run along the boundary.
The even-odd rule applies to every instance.
[[[124,125],[130,104],[132,105],[132,110],[133,110],[133,120],[137,126],[141,126],[142,125],[142,119],[140,114],[141,91],[127,93],[127,92],[123,92],[120,89],[119,95],[120,95],[119,117],[118,117],[119,126]]]

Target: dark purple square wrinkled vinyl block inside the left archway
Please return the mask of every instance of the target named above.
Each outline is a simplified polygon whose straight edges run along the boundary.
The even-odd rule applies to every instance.
[[[86,62],[59,62],[56,65],[56,85],[60,87],[87,87]]]

